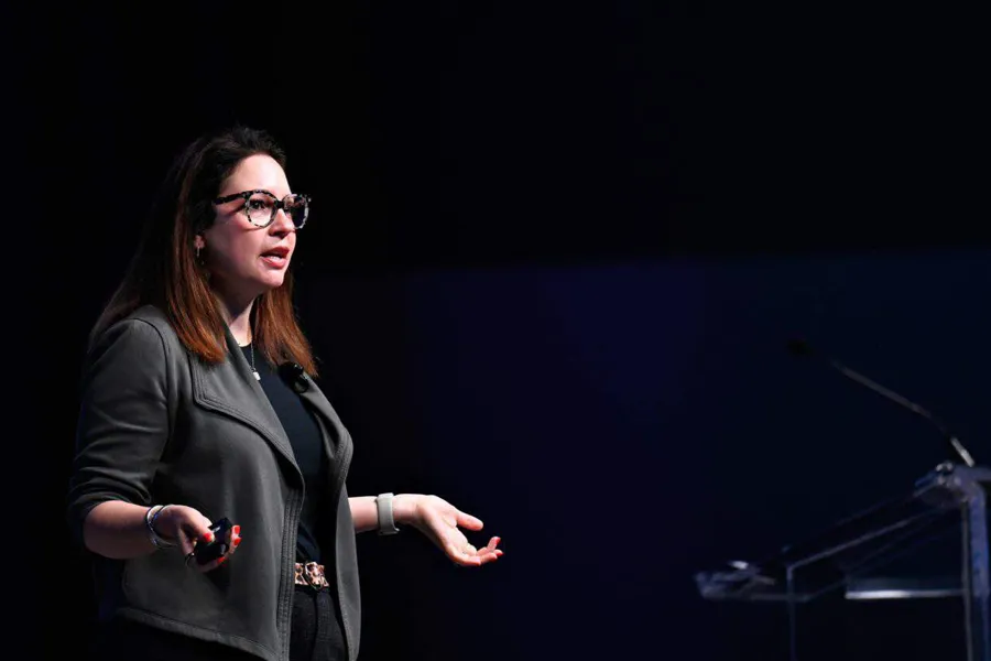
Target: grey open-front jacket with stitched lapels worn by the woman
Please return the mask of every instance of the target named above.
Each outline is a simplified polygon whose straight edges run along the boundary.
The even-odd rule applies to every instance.
[[[95,556],[100,619],[124,617],[286,661],[303,476],[229,330],[227,344],[224,364],[202,362],[153,306],[99,338],[83,373],[68,520],[80,544],[86,514],[111,499],[186,505],[240,524],[237,553],[207,573],[186,567],[177,548],[123,561]],[[330,457],[319,543],[353,661],[361,613],[345,488],[353,446],[308,375],[304,387],[300,397],[316,413]]]

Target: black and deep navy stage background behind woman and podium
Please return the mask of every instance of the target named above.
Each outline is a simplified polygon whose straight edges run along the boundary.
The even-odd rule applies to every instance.
[[[235,121],[272,131],[314,197],[300,310],[356,438],[351,492],[435,492],[504,539],[467,571],[414,533],[362,537],[362,659],[784,659],[780,607],[704,602],[694,573],[946,456],[923,421],[796,362],[796,334],[991,453],[976,10],[3,19],[4,528],[24,658],[92,615],[62,524],[86,333],[172,156]],[[827,604],[814,653],[958,658],[955,608]]]

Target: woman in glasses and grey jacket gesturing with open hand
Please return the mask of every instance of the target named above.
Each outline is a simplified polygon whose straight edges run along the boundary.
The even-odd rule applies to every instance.
[[[356,532],[407,524],[461,565],[502,554],[440,498],[348,496],[351,438],[294,318],[309,201],[284,167],[261,131],[193,142],[92,330],[67,511],[100,658],[353,660]]]

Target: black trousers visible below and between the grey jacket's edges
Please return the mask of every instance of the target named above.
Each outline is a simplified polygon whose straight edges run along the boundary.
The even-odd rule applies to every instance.
[[[217,642],[116,620],[104,626],[94,661],[250,661],[257,657]],[[291,661],[346,661],[340,610],[327,589],[296,586],[293,599]]]

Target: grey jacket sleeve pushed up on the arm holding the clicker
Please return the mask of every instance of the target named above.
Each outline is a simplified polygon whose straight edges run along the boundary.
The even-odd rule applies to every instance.
[[[151,503],[170,436],[166,345],[141,319],[111,326],[87,356],[80,388],[67,518],[80,548],[83,522],[107,500]]]

